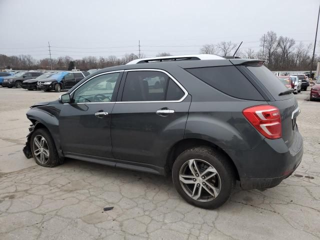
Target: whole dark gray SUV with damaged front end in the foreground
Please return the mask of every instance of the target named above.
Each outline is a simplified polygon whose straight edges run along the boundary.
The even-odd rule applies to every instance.
[[[171,174],[178,193],[203,208],[223,204],[235,180],[276,186],[303,153],[292,89],[261,60],[203,58],[104,68],[31,106],[25,155],[48,167],[71,157]]]

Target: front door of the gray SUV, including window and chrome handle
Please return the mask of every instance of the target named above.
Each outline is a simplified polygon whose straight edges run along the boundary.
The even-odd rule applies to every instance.
[[[111,111],[122,71],[90,78],[71,94],[59,114],[61,147],[66,156],[112,158]]]

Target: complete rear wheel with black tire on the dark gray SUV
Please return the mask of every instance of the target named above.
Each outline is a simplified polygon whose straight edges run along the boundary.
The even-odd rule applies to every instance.
[[[212,209],[221,206],[229,198],[235,173],[226,156],[200,146],[187,149],[176,158],[172,180],[185,201]]]

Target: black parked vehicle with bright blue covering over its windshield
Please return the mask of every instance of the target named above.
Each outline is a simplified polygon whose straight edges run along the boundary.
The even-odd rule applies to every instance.
[[[49,78],[39,80],[37,86],[44,91],[60,92],[64,89],[70,89],[87,75],[89,75],[87,71],[62,71]]]

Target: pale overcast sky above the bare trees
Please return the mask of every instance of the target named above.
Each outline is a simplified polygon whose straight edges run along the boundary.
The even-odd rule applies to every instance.
[[[0,54],[44,58],[48,41],[53,57],[75,59],[137,54],[138,40],[148,57],[198,53],[222,40],[258,50],[268,30],[307,44],[318,7],[318,0],[0,0]]]

